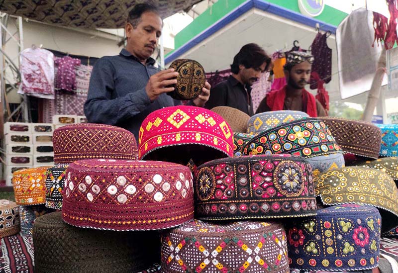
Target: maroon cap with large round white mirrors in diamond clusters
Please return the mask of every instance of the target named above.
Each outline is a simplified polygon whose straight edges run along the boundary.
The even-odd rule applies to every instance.
[[[194,219],[193,178],[186,166],[81,160],[69,165],[66,177],[62,217],[74,226],[153,230]]]

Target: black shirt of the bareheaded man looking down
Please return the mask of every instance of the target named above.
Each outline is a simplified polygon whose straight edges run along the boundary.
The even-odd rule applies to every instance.
[[[253,115],[251,88],[246,88],[234,77],[229,76],[227,80],[211,88],[210,97],[204,107],[211,109],[216,106],[229,106]]]

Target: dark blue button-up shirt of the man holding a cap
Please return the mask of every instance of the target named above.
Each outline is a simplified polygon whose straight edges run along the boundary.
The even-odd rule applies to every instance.
[[[181,104],[163,93],[151,102],[145,87],[149,77],[160,70],[149,58],[143,65],[126,49],[118,56],[100,58],[91,74],[84,112],[89,122],[125,128],[138,139],[145,117],[160,108]]]

